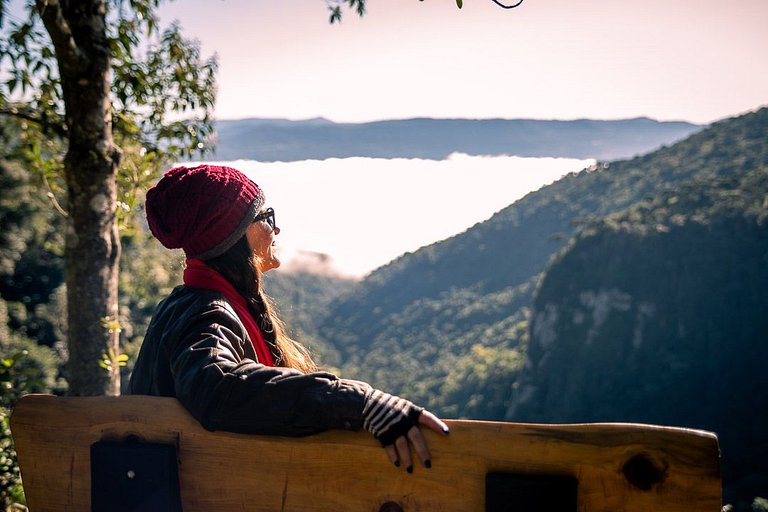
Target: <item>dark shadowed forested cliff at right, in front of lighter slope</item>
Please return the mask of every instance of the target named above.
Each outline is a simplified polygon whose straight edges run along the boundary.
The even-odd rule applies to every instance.
[[[768,491],[768,166],[594,223],[536,293],[506,419],[717,432],[729,501]]]

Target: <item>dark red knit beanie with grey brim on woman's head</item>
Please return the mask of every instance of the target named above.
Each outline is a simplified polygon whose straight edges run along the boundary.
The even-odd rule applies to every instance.
[[[264,206],[264,193],[231,167],[175,167],[147,191],[152,234],[169,249],[202,260],[235,245]]]

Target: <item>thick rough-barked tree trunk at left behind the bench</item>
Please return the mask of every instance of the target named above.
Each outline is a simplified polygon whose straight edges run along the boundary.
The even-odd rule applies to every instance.
[[[69,131],[65,158],[69,392],[119,394],[119,371],[99,365],[104,355],[119,354],[114,330],[120,151],[112,140],[106,6],[97,0],[38,0],[38,6],[56,48]]]

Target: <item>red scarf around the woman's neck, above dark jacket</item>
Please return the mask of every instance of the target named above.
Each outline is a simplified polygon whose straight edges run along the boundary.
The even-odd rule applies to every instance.
[[[253,319],[245,298],[235,290],[235,287],[224,276],[206,265],[203,260],[188,259],[187,268],[184,269],[184,284],[191,288],[205,288],[224,294],[227,302],[235,308],[235,313],[245,326],[251,343],[253,343],[253,348],[256,350],[258,362],[267,366],[275,366],[272,352],[270,352],[267,342],[264,341],[261,329],[256,324],[256,320]]]

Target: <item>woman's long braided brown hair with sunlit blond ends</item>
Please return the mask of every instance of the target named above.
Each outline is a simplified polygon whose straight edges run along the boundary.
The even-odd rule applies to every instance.
[[[229,281],[248,302],[251,315],[264,336],[275,364],[303,373],[317,370],[307,348],[285,332],[271,299],[261,289],[261,271],[248,238],[243,236],[227,252],[205,262]]]

